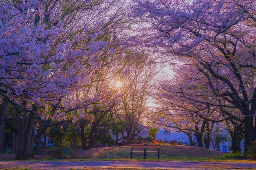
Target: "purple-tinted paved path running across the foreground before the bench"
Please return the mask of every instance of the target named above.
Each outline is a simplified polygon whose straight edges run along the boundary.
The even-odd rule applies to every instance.
[[[138,169],[256,169],[254,163],[237,162],[192,162],[192,161],[0,161],[0,169],[5,167],[24,168],[31,170],[70,170],[74,169],[104,169],[116,168],[138,168]]]

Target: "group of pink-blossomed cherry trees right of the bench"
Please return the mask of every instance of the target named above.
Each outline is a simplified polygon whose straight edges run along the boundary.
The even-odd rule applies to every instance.
[[[134,3],[134,17],[147,23],[141,41],[175,63],[175,79],[155,94],[170,126],[193,127],[202,146],[203,132],[227,123],[233,151],[244,136],[246,154],[256,139],[255,1]]]

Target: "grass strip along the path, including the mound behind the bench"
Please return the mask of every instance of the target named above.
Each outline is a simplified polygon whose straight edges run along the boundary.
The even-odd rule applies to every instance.
[[[134,150],[136,151],[136,150]],[[133,153],[130,159],[130,146],[101,147],[90,150],[82,150],[76,153],[76,159],[29,159],[18,161],[233,161],[233,162],[255,162],[246,159],[239,153],[221,153],[200,147],[161,145],[160,159],[157,153]],[[10,160],[9,160],[10,161]],[[12,160],[14,161],[14,160]],[[16,161],[16,160],[15,160]]]

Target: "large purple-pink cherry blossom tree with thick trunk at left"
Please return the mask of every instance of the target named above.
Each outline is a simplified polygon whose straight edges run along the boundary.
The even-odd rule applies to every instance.
[[[0,117],[19,138],[16,159],[31,157],[34,139],[52,123],[89,119],[92,105],[100,107],[103,99],[105,107],[113,102],[105,98],[113,92],[105,92],[106,88],[98,88],[92,96],[86,93],[101,58],[113,51],[111,41],[101,37],[107,36],[111,23],[116,22],[116,13],[113,17],[105,15],[104,19],[110,19],[103,20],[105,23],[94,15],[96,11],[99,16],[104,15],[102,11],[111,11],[110,6],[110,1],[93,0],[74,4],[57,0],[1,4],[0,95],[3,103],[12,103],[18,111],[19,128],[9,125],[4,109]],[[95,13],[88,15],[92,9]],[[36,119],[43,120],[44,125],[34,136]]]

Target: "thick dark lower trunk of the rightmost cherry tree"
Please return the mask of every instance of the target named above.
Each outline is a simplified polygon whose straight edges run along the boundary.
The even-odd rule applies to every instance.
[[[246,116],[245,118],[245,129],[244,129],[244,156],[246,156],[248,147],[253,144],[253,116]]]

